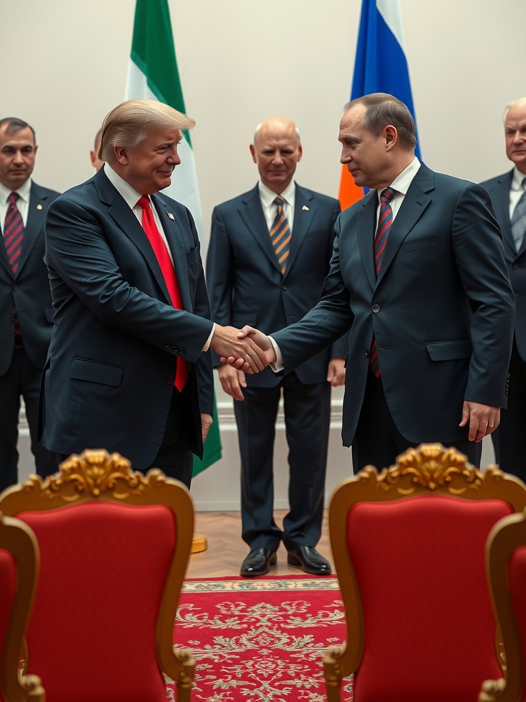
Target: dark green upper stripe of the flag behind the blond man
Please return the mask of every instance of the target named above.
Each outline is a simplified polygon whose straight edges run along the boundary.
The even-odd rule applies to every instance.
[[[186,113],[168,0],[137,0],[130,58],[142,71],[148,87],[160,102]],[[186,131],[184,138],[191,146]]]

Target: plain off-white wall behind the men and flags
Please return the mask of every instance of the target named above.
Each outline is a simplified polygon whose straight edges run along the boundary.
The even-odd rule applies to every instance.
[[[337,125],[349,99],[359,0],[169,0],[192,134],[203,218],[257,178],[248,152],[256,124],[284,114],[302,132],[299,183],[337,194]],[[524,0],[400,0],[426,163],[482,180],[508,168],[501,114],[526,94]],[[65,190],[89,178],[104,114],[123,100],[134,0],[2,0],[1,117],[36,129],[35,180]],[[205,232],[208,235],[208,232]],[[336,393],[338,401],[339,393]],[[238,500],[230,402],[218,393],[225,458],[194,482],[197,506]],[[337,424],[338,404],[333,407]],[[285,445],[278,437],[278,501]],[[22,437],[27,442],[27,437]],[[27,446],[22,446],[27,457]],[[331,432],[328,491],[350,474]],[[29,470],[24,458],[22,473]],[[223,508],[223,507],[221,507]]]

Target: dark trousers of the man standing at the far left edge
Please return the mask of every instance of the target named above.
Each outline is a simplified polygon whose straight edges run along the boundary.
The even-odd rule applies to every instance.
[[[48,475],[54,472],[55,456],[36,444],[36,425],[39,416],[41,369],[30,360],[24,348],[13,351],[7,373],[0,376],[0,490],[18,482],[18,413],[20,397],[24,398],[25,413],[31,435],[31,450],[36,472]]]

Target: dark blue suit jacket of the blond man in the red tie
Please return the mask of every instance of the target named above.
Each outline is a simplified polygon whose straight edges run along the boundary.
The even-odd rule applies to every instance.
[[[43,373],[43,445],[102,447],[138,470],[163,438],[176,358],[190,362],[191,449],[202,453],[201,412],[213,410],[212,330],[199,242],[187,208],[152,196],[166,232],[184,310],[170,304],[144,230],[101,169],[60,196],[46,220],[55,316]],[[191,314],[190,314],[191,313]]]

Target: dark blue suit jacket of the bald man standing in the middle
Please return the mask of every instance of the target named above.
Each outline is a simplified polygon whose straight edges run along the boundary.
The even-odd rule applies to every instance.
[[[281,274],[264,218],[259,188],[218,205],[206,265],[213,319],[223,325],[250,324],[264,333],[303,317],[319,299],[329,272],[339,202],[296,185],[290,254]],[[323,383],[332,357],[345,358],[346,338],[300,364],[302,383]],[[215,365],[220,361],[216,357]],[[246,376],[247,385],[270,388],[280,382],[270,369]]]

